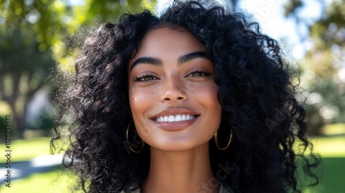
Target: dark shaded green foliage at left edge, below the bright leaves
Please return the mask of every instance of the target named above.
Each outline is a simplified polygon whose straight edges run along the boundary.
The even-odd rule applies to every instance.
[[[35,41],[35,32],[23,26],[0,37],[1,75],[25,72],[32,78],[30,87],[37,87],[46,79],[55,61],[49,50],[41,52]]]

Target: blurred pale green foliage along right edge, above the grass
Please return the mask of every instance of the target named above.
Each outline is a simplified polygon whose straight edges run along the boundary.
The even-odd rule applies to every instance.
[[[306,54],[306,67],[312,70],[309,92],[322,96],[314,107],[325,123],[345,122],[345,0],[333,1],[321,19],[310,26],[313,49]],[[313,115],[312,115],[313,116]]]

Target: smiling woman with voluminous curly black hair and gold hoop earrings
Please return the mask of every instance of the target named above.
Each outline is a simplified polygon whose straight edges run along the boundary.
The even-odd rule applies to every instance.
[[[319,159],[293,148],[312,149],[294,73],[241,14],[197,1],[124,14],[75,67],[59,121],[84,192],[299,192],[297,157],[317,184]]]

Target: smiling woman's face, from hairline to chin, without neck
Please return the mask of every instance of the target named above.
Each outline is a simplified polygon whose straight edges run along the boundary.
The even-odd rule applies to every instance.
[[[149,31],[128,66],[130,108],[141,139],[172,152],[208,143],[221,120],[213,74],[204,45],[192,34]]]

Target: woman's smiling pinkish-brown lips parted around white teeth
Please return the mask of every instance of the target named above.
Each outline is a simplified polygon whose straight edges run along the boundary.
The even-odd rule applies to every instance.
[[[159,117],[164,117],[164,116],[176,116],[176,115],[190,115],[190,116],[195,116],[193,119],[190,120],[185,120],[185,121],[178,121],[178,122],[159,122],[156,121],[157,118]],[[179,131],[179,130],[183,130],[184,128],[187,128],[189,125],[193,124],[194,121],[197,119],[197,117],[199,116],[199,114],[197,114],[196,112],[194,112],[193,110],[189,110],[188,108],[168,108],[165,110],[162,110],[160,112],[158,112],[157,114],[155,114],[155,116],[153,116],[151,118],[151,120],[158,125],[159,128],[161,128],[162,130],[166,130],[166,131]]]

